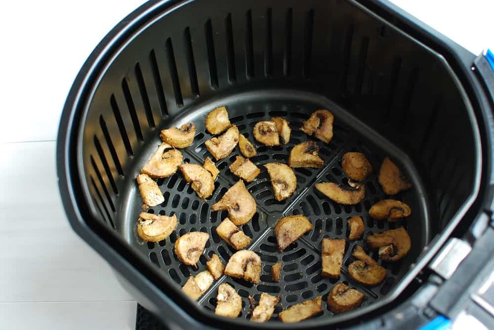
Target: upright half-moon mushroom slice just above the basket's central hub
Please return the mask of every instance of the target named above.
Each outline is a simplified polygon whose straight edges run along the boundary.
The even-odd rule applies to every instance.
[[[283,163],[269,163],[264,167],[268,170],[276,200],[282,201],[290,197],[297,187],[297,177],[293,170]]]

